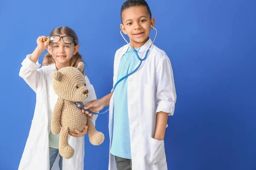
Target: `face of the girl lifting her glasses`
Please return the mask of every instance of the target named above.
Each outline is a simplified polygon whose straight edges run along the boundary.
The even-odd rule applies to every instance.
[[[60,35],[61,37],[65,35]],[[57,43],[50,42],[47,50],[49,54],[55,59],[55,65],[57,69],[70,66],[70,59],[79,50],[79,45],[75,45],[74,42],[66,44],[62,38]]]

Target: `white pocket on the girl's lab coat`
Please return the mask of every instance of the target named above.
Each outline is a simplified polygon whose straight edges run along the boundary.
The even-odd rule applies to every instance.
[[[47,137],[47,124],[32,120],[27,145],[30,149],[44,150]]]

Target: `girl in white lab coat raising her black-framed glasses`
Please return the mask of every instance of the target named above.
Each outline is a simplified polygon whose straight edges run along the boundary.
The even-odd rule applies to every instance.
[[[59,155],[59,134],[51,132],[52,112],[58,100],[53,91],[52,76],[54,71],[67,66],[77,67],[82,61],[78,53],[78,37],[71,28],[58,27],[52,30],[49,37],[38,37],[37,44],[35,51],[21,63],[19,74],[36,93],[35,113],[19,170],[57,170],[58,167],[60,170],[83,170],[84,137],[81,136],[87,134],[87,126],[81,132],[76,130],[77,133],[69,133],[69,144],[75,150],[71,159],[63,159]],[[44,56],[43,66],[39,68],[38,58],[45,49],[49,54]],[[93,85],[86,75],[85,80],[89,95],[84,104],[96,99]],[[91,118],[94,125],[96,118],[95,115]]]

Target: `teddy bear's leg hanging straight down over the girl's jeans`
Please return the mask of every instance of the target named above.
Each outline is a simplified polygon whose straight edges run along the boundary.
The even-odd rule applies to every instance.
[[[68,144],[68,127],[61,127],[59,153],[66,159],[70,159],[74,155],[73,147]]]

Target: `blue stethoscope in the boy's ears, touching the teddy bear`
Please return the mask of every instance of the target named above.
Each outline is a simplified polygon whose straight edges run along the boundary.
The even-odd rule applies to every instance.
[[[155,40],[156,37],[157,37],[157,29],[154,28],[153,26],[151,26],[151,28],[153,28],[153,29],[156,31],[156,34],[155,34],[155,36],[154,36],[154,40]],[[131,47],[131,49],[132,49],[132,50],[134,51],[134,53],[136,54],[137,58],[140,60],[140,64],[137,66],[137,68],[134,69],[134,71],[132,71],[131,73],[129,73],[129,74],[125,75],[124,77],[122,77],[121,79],[119,79],[119,80],[116,82],[116,84],[114,85],[113,91],[115,91],[116,85],[118,85],[119,82],[121,82],[121,81],[124,80],[126,77],[130,76],[131,74],[133,74],[135,71],[137,71],[137,70],[140,68],[141,63],[147,58],[149,49],[151,48],[152,44],[154,43],[154,40],[153,40],[152,43],[151,43],[151,45],[148,47],[148,50],[147,50],[147,51],[139,52],[139,51],[135,50],[135,49],[131,46],[131,44],[125,39],[125,37],[124,37],[123,34],[122,34],[122,30],[120,31],[120,34],[122,35],[122,37],[123,37],[123,39],[125,40],[125,42],[127,42],[127,44]],[[146,54],[145,54],[145,57],[144,57],[143,59],[141,59],[141,58],[139,57],[139,54],[138,54],[138,53],[146,53]],[[79,104],[78,102],[76,102],[76,106],[77,106],[79,109],[84,109],[84,107],[83,107],[81,104]],[[108,108],[108,110],[106,110],[106,111],[104,111],[104,112],[102,112],[102,113],[95,113],[95,112],[89,111],[88,109],[84,109],[84,110],[85,110],[85,111],[88,111],[89,113],[92,113],[92,114],[104,114],[104,113],[107,113],[107,112],[109,111],[109,108]]]

